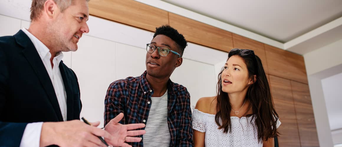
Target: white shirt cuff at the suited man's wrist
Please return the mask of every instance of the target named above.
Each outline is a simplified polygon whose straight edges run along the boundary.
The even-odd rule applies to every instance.
[[[24,130],[20,147],[39,147],[43,122],[28,123]]]

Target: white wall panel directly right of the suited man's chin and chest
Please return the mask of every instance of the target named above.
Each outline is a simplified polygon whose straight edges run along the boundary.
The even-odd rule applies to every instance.
[[[103,126],[104,98],[108,85],[116,79],[115,42],[83,35],[77,52],[72,53],[71,68],[80,85],[81,116],[101,120]]]

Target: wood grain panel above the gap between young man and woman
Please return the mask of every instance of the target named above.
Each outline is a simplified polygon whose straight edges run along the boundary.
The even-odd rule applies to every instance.
[[[182,33],[188,42],[225,52],[233,49],[231,32],[173,13],[169,13],[169,23],[171,27]]]

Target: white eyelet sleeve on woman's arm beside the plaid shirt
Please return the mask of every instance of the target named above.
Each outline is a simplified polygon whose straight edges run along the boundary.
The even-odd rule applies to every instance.
[[[206,132],[205,114],[195,108],[192,115],[192,127],[199,132]]]

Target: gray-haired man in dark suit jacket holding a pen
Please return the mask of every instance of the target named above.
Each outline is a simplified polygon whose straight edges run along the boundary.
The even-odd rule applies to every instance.
[[[0,37],[0,146],[106,146],[96,136],[112,146],[140,141],[127,136],[144,134],[129,130],[145,125],[117,123],[123,114],[105,130],[79,120],[78,81],[62,51],[76,51],[89,32],[88,1],[32,0],[29,29]]]

